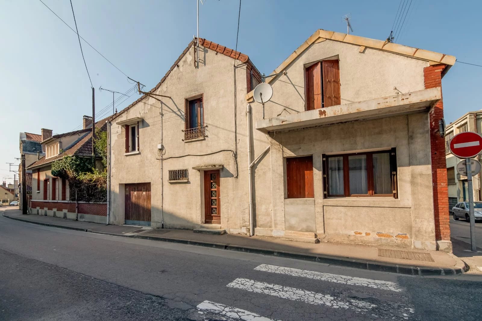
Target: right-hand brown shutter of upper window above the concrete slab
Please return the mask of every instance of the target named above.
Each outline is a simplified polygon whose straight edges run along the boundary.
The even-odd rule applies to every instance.
[[[341,104],[340,64],[338,60],[323,60],[323,107]]]

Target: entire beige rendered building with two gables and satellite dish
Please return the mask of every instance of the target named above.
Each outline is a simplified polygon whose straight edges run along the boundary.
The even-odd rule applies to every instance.
[[[263,111],[249,58],[199,42],[199,68],[191,43],[110,119],[110,223],[451,250],[436,130],[455,57],[317,30]]]

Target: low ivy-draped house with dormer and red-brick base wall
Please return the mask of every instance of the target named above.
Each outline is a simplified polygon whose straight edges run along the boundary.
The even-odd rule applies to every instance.
[[[95,123],[96,128],[106,128],[106,120]],[[45,156],[27,167],[32,171],[32,214],[58,216],[80,221],[107,223],[107,204],[87,203],[71,197],[68,181],[51,174],[52,163],[66,155],[92,158],[92,118],[83,116],[83,128],[65,134],[52,135],[52,130],[42,128],[41,145]],[[96,161],[98,166],[100,161]],[[76,206],[78,206],[76,208]]]

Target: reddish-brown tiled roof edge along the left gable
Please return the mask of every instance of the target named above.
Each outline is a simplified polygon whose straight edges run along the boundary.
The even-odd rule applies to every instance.
[[[166,80],[167,76],[169,76],[169,74],[171,73],[171,71],[174,70],[175,67],[177,67],[177,64],[179,64],[179,62],[182,60],[182,58],[184,58],[184,56],[187,54],[187,52],[189,51],[189,49],[191,48],[191,46],[194,44],[194,40],[191,40],[191,42],[189,42],[189,44],[187,45],[186,49],[184,49],[184,51],[182,52],[182,54],[179,55],[179,58],[177,58],[176,61],[174,61],[174,64],[171,66],[171,68],[169,68],[169,70],[166,72],[166,74],[164,75],[164,77],[162,77],[161,81],[159,81],[159,83],[154,86],[154,88],[152,88],[151,90],[149,90],[147,93],[149,94],[153,94],[156,90],[159,89],[159,87],[161,87],[161,84]],[[220,54],[224,54],[225,56],[228,56],[228,57],[231,57],[233,59],[236,59],[236,60],[239,60],[241,61],[242,63],[251,63],[251,65],[255,68],[255,70],[257,71],[257,68],[254,66],[254,64],[249,60],[249,57],[248,55],[246,54],[241,54],[239,51],[235,51],[233,49],[229,49],[228,47],[225,47],[225,46],[221,46],[220,44],[218,43],[215,43],[213,41],[209,41],[209,40],[206,40],[206,39],[203,39],[203,38],[199,38],[199,44],[201,46],[203,46],[204,48],[207,48],[207,49],[210,49],[210,50],[213,50],[217,53],[220,53]],[[259,72],[259,71],[257,71]],[[130,104],[129,106],[125,107],[124,109],[120,110],[118,113],[110,116],[108,118],[109,121],[112,121],[114,119],[116,119],[117,117],[119,117],[120,115],[122,115],[124,112],[126,112],[127,110],[129,110],[130,108],[134,107],[137,103],[139,103],[140,101],[142,101],[144,98],[146,98],[148,95],[147,94],[143,94],[142,96],[140,96],[136,101],[134,101],[132,104]]]

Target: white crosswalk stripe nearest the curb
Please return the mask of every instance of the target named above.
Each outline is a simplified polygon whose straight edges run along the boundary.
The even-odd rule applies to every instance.
[[[331,273],[301,270],[299,268],[292,268],[292,267],[278,267],[278,266],[269,265],[269,264],[261,264],[255,267],[254,269],[257,271],[286,274],[286,275],[292,275],[292,276],[309,278],[309,279],[320,280],[320,281],[328,281],[328,282],[342,283],[342,284],[348,284],[348,285],[362,285],[362,286],[368,286],[370,288],[375,288],[375,289],[402,292],[402,289],[397,285],[397,283],[391,282],[391,281],[356,278],[356,277],[350,277],[347,275],[338,275],[338,274],[331,274]]]

